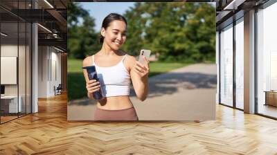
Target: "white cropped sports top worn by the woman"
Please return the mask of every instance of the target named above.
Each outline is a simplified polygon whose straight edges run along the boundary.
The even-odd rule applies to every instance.
[[[97,76],[104,97],[129,95],[131,78],[123,64],[126,55],[123,56],[123,59],[118,64],[109,67],[97,66],[94,62],[94,55],[92,55],[92,65],[96,66]]]

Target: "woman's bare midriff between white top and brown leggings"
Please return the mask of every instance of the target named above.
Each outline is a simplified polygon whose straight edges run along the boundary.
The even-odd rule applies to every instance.
[[[128,95],[122,96],[111,96],[97,102],[97,107],[99,109],[105,110],[121,110],[132,108],[132,101],[129,99]]]

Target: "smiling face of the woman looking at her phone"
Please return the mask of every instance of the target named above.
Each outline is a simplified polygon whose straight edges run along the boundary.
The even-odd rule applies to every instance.
[[[113,50],[118,50],[126,41],[126,24],[124,21],[111,21],[109,26],[102,28],[101,35],[104,37],[104,42]]]

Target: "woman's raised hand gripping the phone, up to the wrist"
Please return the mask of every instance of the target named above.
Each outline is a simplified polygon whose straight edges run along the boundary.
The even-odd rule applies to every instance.
[[[145,56],[143,56],[144,63],[141,64],[141,62],[136,61],[135,64],[135,70],[136,73],[139,75],[139,77],[143,80],[145,78],[148,78],[148,74],[150,72],[150,67],[149,67],[149,60],[146,59]]]

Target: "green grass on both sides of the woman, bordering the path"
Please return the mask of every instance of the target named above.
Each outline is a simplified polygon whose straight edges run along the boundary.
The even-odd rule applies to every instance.
[[[178,62],[150,62],[150,74],[149,77],[166,73],[173,69],[178,69],[188,64]],[[87,96],[86,82],[82,73],[82,60],[67,61],[68,69],[68,97],[69,100],[75,100],[78,98],[84,98]]]

